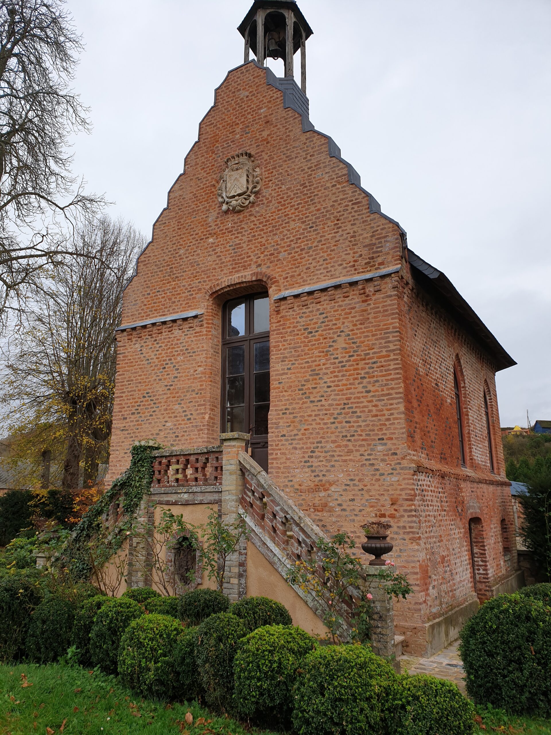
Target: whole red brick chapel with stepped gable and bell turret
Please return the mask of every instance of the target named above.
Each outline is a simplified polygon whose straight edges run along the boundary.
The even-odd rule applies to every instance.
[[[318,531],[392,523],[414,586],[395,631],[435,653],[522,581],[494,381],[515,363],[314,128],[295,1],[255,0],[239,31],[245,62],[124,295],[109,474],[158,440],[158,502],[201,520],[241,473],[234,598],[288,600],[285,564]],[[315,629],[308,604],[289,603]]]

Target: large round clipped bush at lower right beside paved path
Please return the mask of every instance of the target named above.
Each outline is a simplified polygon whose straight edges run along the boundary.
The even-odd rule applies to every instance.
[[[514,714],[551,714],[551,609],[524,595],[488,600],[459,647],[467,692]]]

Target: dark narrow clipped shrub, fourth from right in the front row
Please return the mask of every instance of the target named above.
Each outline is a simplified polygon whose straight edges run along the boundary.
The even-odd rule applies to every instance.
[[[231,706],[237,642],[248,633],[245,623],[229,612],[207,617],[197,631],[195,659],[206,703],[219,711]]]

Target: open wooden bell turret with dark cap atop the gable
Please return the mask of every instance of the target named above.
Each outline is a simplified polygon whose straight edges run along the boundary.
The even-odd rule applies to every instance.
[[[268,57],[283,59],[286,77],[295,77],[300,49],[300,88],[306,94],[306,40],[313,31],[295,0],[255,0],[237,30],[245,39],[245,63],[250,51],[262,66]]]

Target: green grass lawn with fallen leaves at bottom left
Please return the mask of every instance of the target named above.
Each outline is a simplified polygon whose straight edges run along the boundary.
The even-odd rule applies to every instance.
[[[245,729],[196,702],[166,706],[137,698],[114,676],[97,671],[60,664],[0,665],[0,735],[33,733],[245,735]]]

